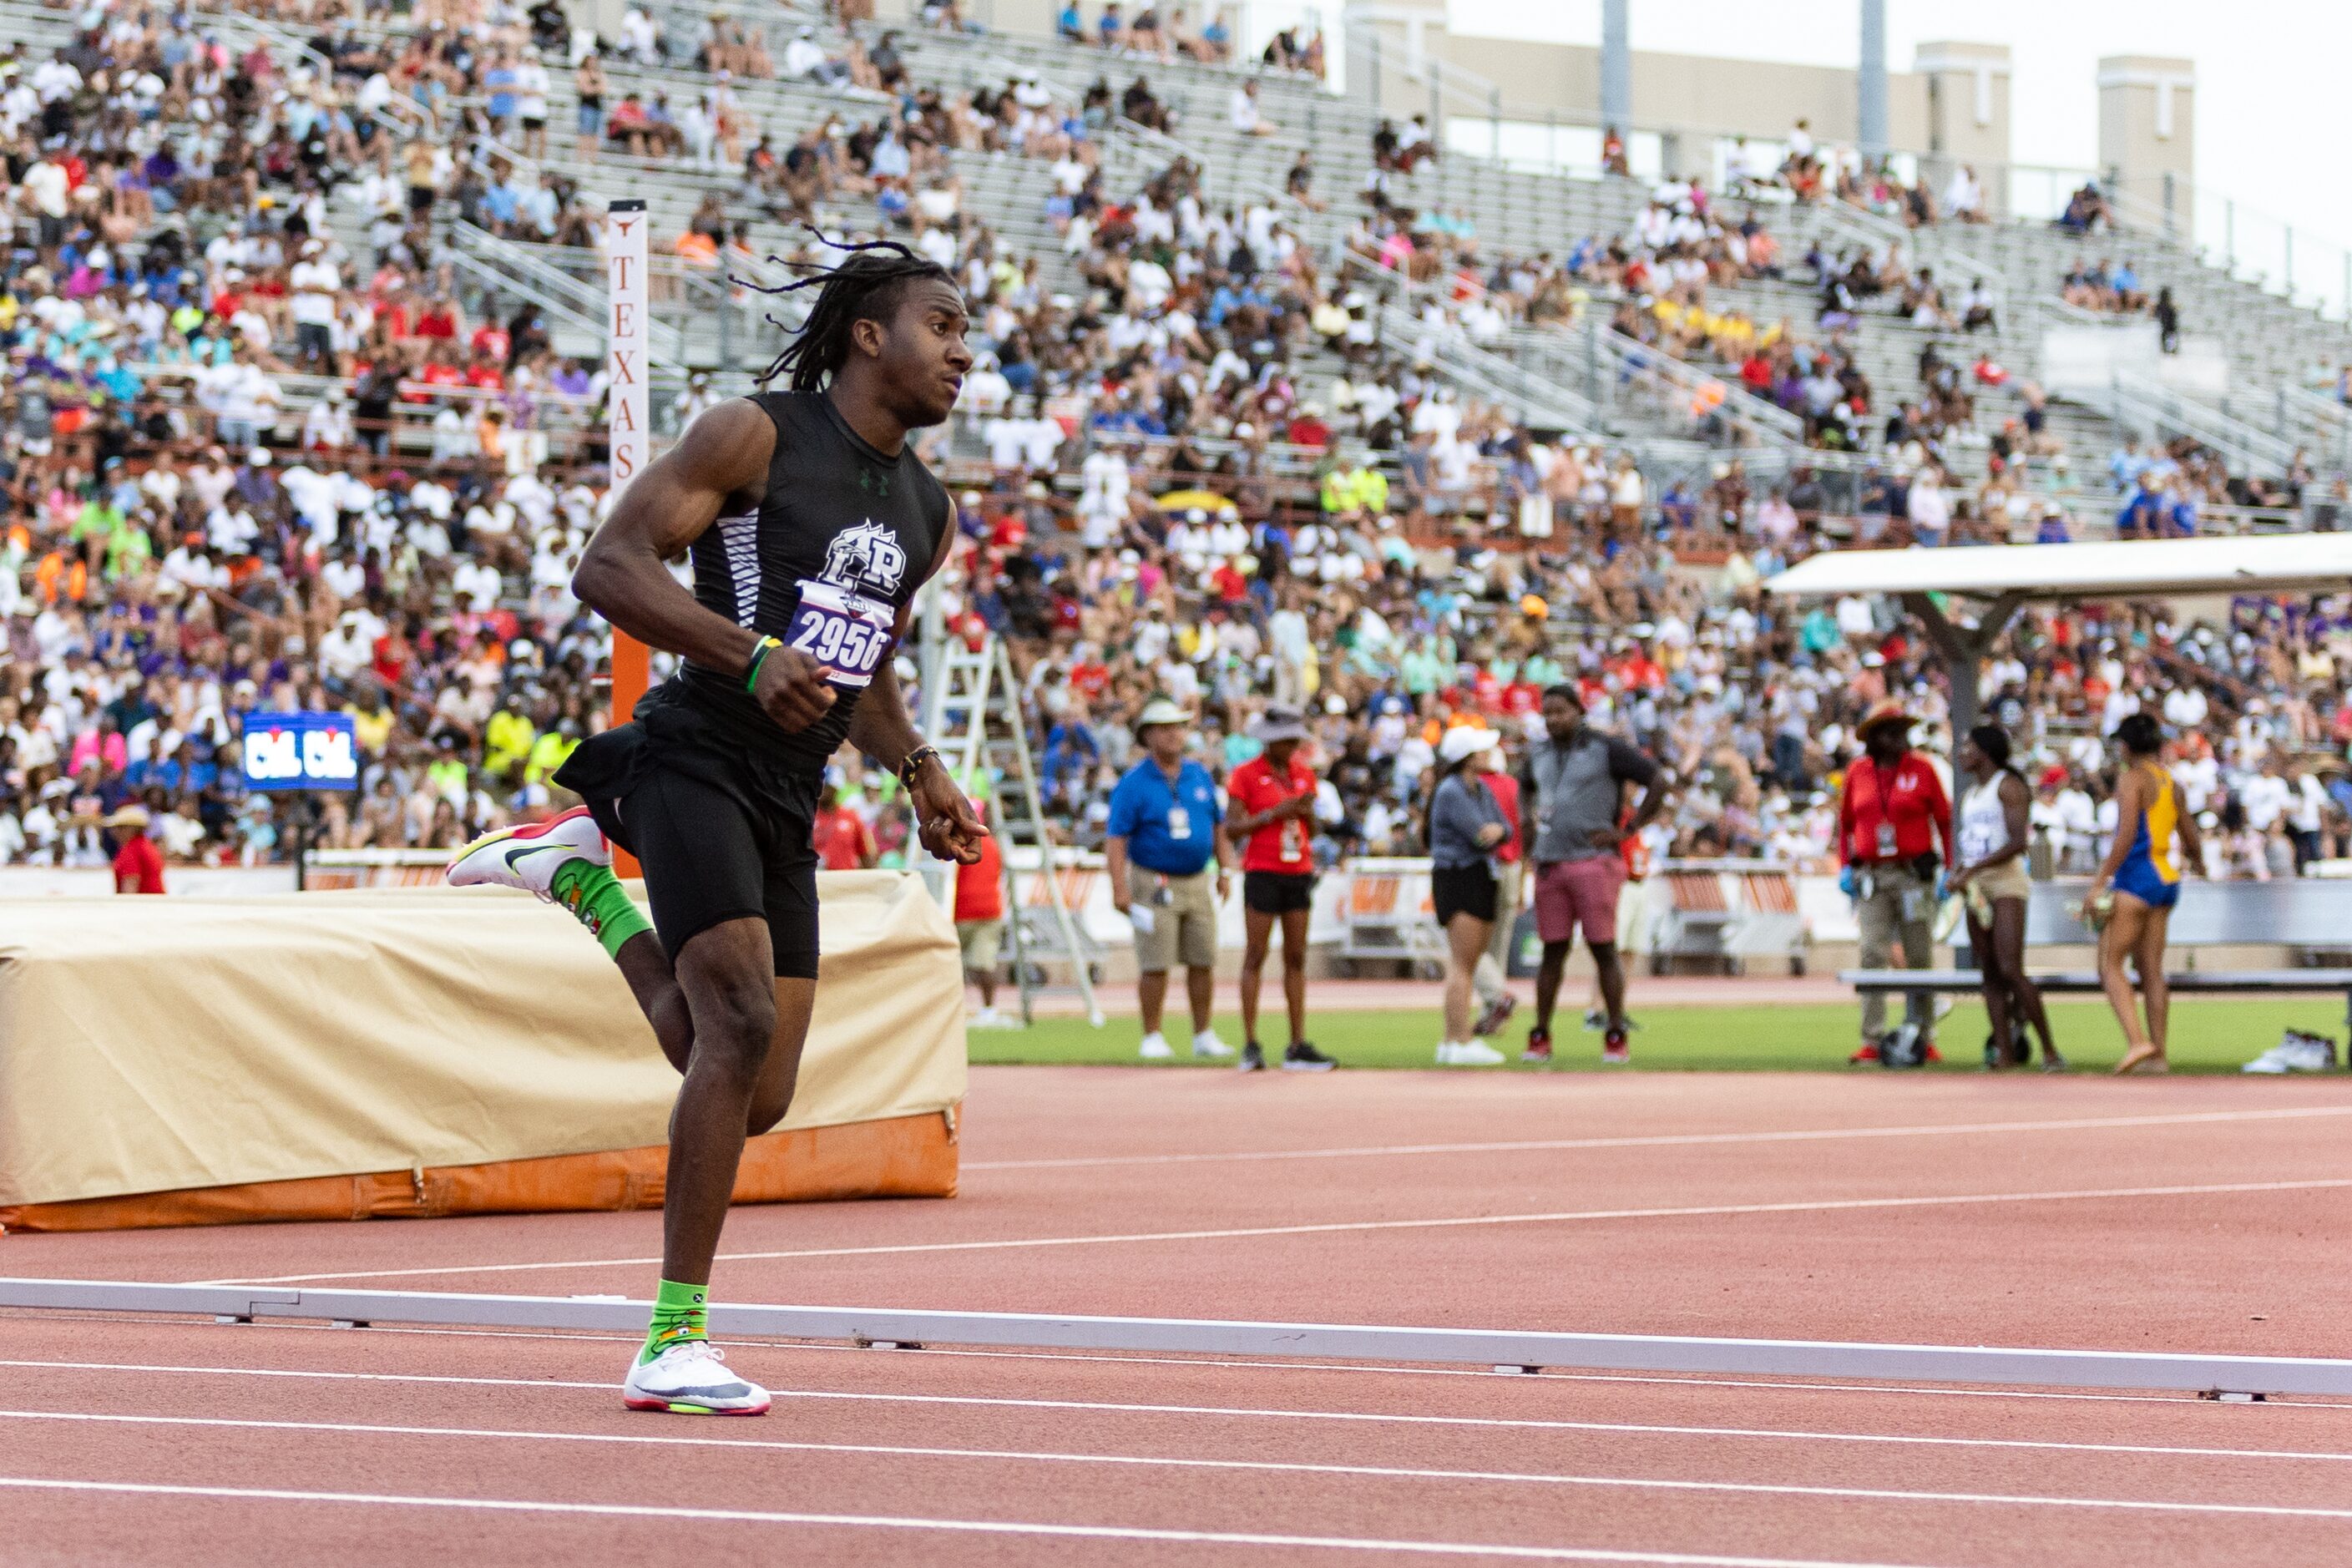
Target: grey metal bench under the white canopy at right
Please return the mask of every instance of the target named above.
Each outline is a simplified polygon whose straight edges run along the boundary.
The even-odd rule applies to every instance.
[[[2089,882],[2037,882],[2025,905],[2025,957],[2034,985],[2049,994],[2098,992],[2096,969],[2034,971],[2034,947],[2096,947],[2098,933],[2077,922],[2067,905],[2082,903]],[[2166,931],[2173,950],[2185,950],[2194,964],[2199,947],[2279,945],[2300,959],[2298,969],[2173,969],[2166,980],[2178,994],[2270,992],[2314,994],[2343,992],[2345,1023],[2352,1025],[2352,882],[2279,879],[2279,882],[2190,882]],[[2338,961],[2321,961],[2338,959]],[[1973,992],[1983,985],[1976,969],[1846,969],[1837,976],[1858,992]]]

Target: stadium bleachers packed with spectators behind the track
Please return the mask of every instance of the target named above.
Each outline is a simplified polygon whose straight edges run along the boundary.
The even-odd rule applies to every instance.
[[[496,52],[539,49],[520,19],[426,28],[445,56],[433,73],[456,82],[428,103],[412,92],[419,16],[207,9],[181,33],[122,2],[0,0],[16,141],[0,860],[103,863],[132,804],[179,858],[282,856],[268,802],[221,766],[266,708],[362,715],[367,790],[322,823],[329,846],[447,849],[560,804],[548,773],[604,722],[607,635],[567,583],[604,501],[593,240],[619,195],[647,200],[656,235],[666,433],[748,390],[781,346],[767,317],[795,306],[746,280],[828,254],[804,221],[929,242],[957,268],[976,341],[1023,378],[969,388],[974,407],[931,449],[964,496],[948,618],[1014,644],[1056,823],[1080,844],[1101,837],[1152,691],[1200,703],[1221,764],[1251,755],[1268,701],[1310,701],[1343,797],[1319,853],[1338,858],[1414,842],[1446,724],[1517,731],[1543,684],[1576,679],[1684,783],[1661,849],[1818,858],[1823,783],[1856,715],[1900,696],[1933,719],[1943,696],[1891,607],[1788,623],[1762,576],[1851,543],[2343,517],[2343,404],[2310,388],[2333,386],[2352,334],[2136,214],[2089,240],[2034,221],[1912,228],[1762,181],[1710,193],[1461,148],[1390,169],[1367,202],[1383,115],[1298,73],[779,5],[731,26],[762,28],[774,61],[807,31],[840,80],[720,75],[696,61],[706,7],[642,14],[654,63],[607,40],[604,108],[666,96],[680,139],[708,150],[635,158],[607,139],[583,155],[569,28],[541,56],[546,146],[527,155],[482,80]],[[898,92],[875,85],[884,33]],[[393,66],[381,85],[353,66],[367,52]],[[40,75],[66,56],[82,61],[75,85]],[[1138,75],[1164,129],[1117,113]],[[1268,134],[1235,127],[1242,82]],[[1089,108],[1098,85],[1108,110]],[[938,94],[929,125],[950,134],[910,150],[884,212],[866,132],[903,125],[917,92]],[[993,129],[964,113],[1009,92]],[[193,101],[202,118],[165,115]],[[715,101],[729,125],[696,122]],[[252,127],[252,167],[212,167],[226,153],[207,125]],[[306,150],[336,136],[358,167]],[[748,179],[762,139],[790,179]],[[1063,139],[1070,158],[1037,155]],[[1312,202],[1289,188],[1301,158]],[[78,181],[103,190],[82,200]],[[800,209],[790,181],[823,188]],[[108,242],[99,209],[139,202],[151,216]],[[1698,228],[1712,214],[1691,244],[1719,263],[1752,219],[1778,275],[1722,263],[1705,284],[1658,287],[1665,252],[1639,237],[1653,209]],[[717,233],[699,233],[710,214]],[[1649,280],[1628,282],[1611,247]],[[2218,346],[2232,404],[2122,383],[2027,393],[2046,327],[2077,310],[2065,273],[2107,252],[2173,289]],[[1893,282],[1825,317],[1809,254]],[[325,353],[296,331],[292,296],[320,289],[292,277],[303,263],[336,268]],[[1486,320],[1494,280],[1515,273],[1557,282],[1564,310],[1524,320],[1508,299]],[[1900,313],[1922,273],[1938,299]],[[1971,289],[1992,310],[1973,331],[1955,320]],[[435,315],[449,331],[421,329]],[[1762,395],[1740,390],[1726,341],[1773,346]],[[1870,388],[1851,421],[1773,400],[1839,374],[1839,402]],[[1889,435],[1905,404],[1929,411]],[[1825,447],[1832,425],[1851,435]],[[1230,512],[1155,505],[1200,489]],[[2227,867],[2272,875],[2281,853],[2288,870],[2305,858],[2303,816],[2352,830],[2343,771],[2317,766],[2352,741],[2347,639],[2331,604],[2234,607],[2211,625],[2053,611],[2013,632],[1987,698],[2013,698],[2060,851],[2096,832],[2060,799],[2096,802],[2100,736],[2147,703],[2187,731],[2185,778],[2225,827]],[[2293,802],[2256,785],[2274,757],[2303,759]],[[903,858],[887,780],[842,769]]]

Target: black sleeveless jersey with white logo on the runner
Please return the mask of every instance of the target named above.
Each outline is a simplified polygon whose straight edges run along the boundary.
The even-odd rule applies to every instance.
[[[776,456],[760,505],[722,515],[694,541],[696,602],[786,639],[804,585],[873,616],[903,609],[955,527],[946,487],[913,447],[898,456],[875,451],[823,393],[762,393],[753,402],[776,423]],[[837,684],[826,717],[797,733],[767,717],[741,672],[689,661],[656,698],[684,703],[750,757],[814,778],[849,736],[861,691]]]

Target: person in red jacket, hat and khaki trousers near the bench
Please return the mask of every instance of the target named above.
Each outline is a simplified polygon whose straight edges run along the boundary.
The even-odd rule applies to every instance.
[[[1863,969],[1886,969],[1896,947],[1903,969],[1933,957],[1936,898],[1952,863],[1952,799],[1943,776],[1910,745],[1912,719],[1900,703],[1872,708],[1856,733],[1863,755],[1846,769],[1837,802],[1839,886],[1853,898]],[[1936,1006],[1929,992],[1903,999],[1910,1030],[1886,1034],[1886,994],[1863,997],[1863,1048],[1856,1060],[1917,1067],[1933,1056]]]

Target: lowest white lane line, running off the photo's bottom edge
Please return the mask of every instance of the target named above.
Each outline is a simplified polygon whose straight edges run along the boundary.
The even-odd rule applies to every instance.
[[[962,1535],[1042,1535],[1061,1540],[1141,1540],[1204,1547],[1275,1547],[1289,1552],[1385,1552],[1414,1556],[1503,1556],[1538,1563],[1656,1563],[1658,1568],[1905,1568],[1788,1556],[1715,1556],[1705,1552],[1611,1552],[1604,1547],[1505,1547],[1451,1540],[1374,1540],[1352,1535],[1258,1535],[1242,1530],[1145,1530],[1141,1526],[1030,1523],[1016,1519],[913,1519],[891,1514],[786,1514],[771,1509],[689,1509],[642,1502],[534,1502],[522,1497],[409,1497],[400,1493],[299,1493],[275,1486],[162,1486],[155,1481],[64,1481],[0,1476],[19,1490],[115,1493],[136,1497],[223,1497],[230,1502],[343,1502],[487,1514],[588,1514],[595,1519],[691,1519],[701,1523],[800,1523],[861,1530],[938,1530]]]

